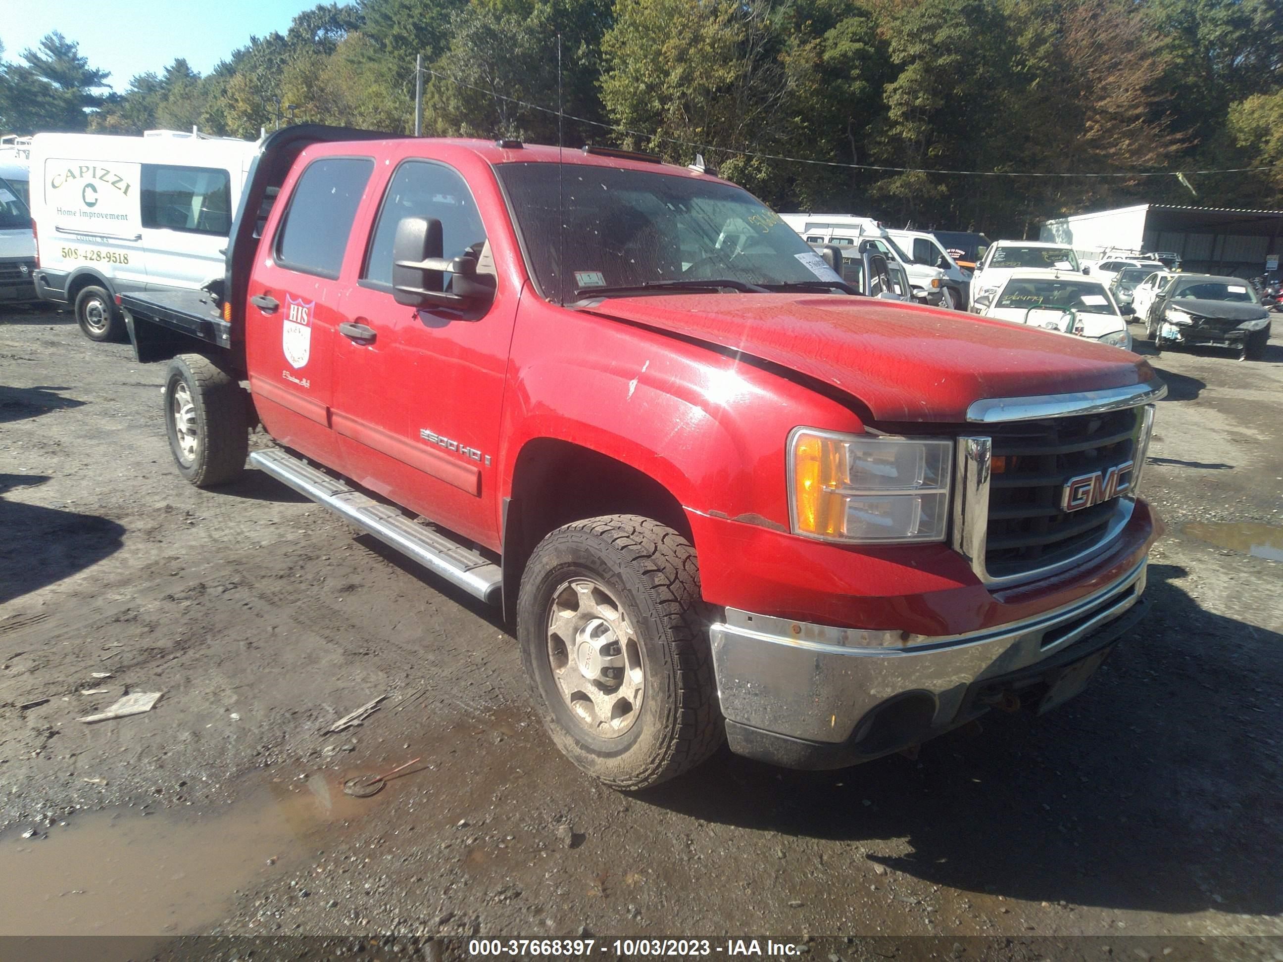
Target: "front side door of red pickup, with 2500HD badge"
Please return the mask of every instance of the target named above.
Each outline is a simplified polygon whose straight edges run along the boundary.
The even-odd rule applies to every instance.
[[[393,241],[407,217],[441,223],[443,257],[472,250],[494,274],[464,177],[407,158],[387,178],[335,348],[334,430],[348,473],[398,504],[499,546],[497,466],[518,291],[497,282],[479,309],[407,307],[393,294]],[[444,274],[449,290],[452,274]]]

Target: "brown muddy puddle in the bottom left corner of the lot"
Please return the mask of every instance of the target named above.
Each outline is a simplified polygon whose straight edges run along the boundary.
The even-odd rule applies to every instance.
[[[332,772],[273,781],[225,809],[115,808],[0,836],[0,935],[207,931],[237,889],[290,870],[395,795],[343,793]]]

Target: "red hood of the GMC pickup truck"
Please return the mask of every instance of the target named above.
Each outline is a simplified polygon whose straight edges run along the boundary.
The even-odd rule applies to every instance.
[[[967,405],[985,398],[1153,380],[1144,359],[1116,348],[871,298],[649,295],[586,309],[795,371],[849,395],[876,421],[965,422]]]

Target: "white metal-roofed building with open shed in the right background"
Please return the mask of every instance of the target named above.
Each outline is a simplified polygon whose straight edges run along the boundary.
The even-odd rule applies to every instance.
[[[1111,248],[1173,251],[1184,271],[1255,277],[1283,253],[1283,210],[1138,204],[1048,221],[1039,239],[1071,244],[1087,260]]]

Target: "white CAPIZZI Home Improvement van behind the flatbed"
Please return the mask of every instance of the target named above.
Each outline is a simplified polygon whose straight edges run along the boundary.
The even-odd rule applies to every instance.
[[[36,290],[87,337],[119,340],[115,295],[199,289],[223,249],[258,145],[195,131],[37,133],[31,144]]]

